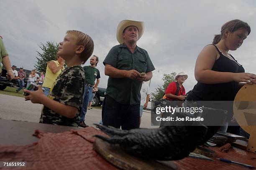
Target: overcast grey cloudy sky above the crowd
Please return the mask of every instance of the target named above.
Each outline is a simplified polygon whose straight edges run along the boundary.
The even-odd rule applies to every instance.
[[[121,20],[137,20],[145,22],[137,45],[148,51],[159,70],[153,73],[151,91],[163,84],[164,73],[181,71],[188,74],[183,85],[189,91],[196,84],[197,55],[220,34],[225,22],[240,19],[251,26],[251,34],[230,54],[246,72],[256,73],[255,0],[1,0],[0,11],[0,35],[11,65],[28,70],[36,63],[38,44],[60,42],[67,30],[80,30],[95,43],[99,87],[107,87],[102,61],[111,47],[118,45],[117,25]]]

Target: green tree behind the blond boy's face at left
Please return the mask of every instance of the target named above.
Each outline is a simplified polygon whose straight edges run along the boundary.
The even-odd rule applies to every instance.
[[[59,44],[47,41],[45,44],[41,43],[38,45],[42,52],[36,51],[38,57],[34,67],[38,72],[46,72],[47,62],[56,60],[57,52],[59,50]]]

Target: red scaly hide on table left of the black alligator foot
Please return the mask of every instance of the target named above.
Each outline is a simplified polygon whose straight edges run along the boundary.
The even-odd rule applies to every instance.
[[[28,170],[117,169],[93,150],[93,135],[96,134],[105,135],[92,127],[64,133],[43,133],[36,130],[35,135],[40,138],[37,143],[0,146],[0,160],[26,161]]]

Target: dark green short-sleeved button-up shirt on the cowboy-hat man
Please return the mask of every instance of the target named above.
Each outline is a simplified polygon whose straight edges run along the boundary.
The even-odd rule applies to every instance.
[[[140,73],[155,70],[146,50],[136,46],[132,53],[125,44],[112,47],[103,64],[109,64],[119,70],[137,70]],[[138,80],[109,77],[106,95],[121,104],[140,104],[141,85],[142,82]]]

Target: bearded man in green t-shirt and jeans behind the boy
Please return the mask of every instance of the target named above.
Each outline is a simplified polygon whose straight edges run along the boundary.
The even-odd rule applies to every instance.
[[[86,128],[87,125],[84,123],[85,114],[87,112],[87,106],[89,100],[92,96],[92,90],[96,89],[100,83],[100,71],[96,68],[99,58],[96,55],[93,55],[90,59],[90,65],[84,66],[84,75],[85,75],[85,87],[84,87],[84,100],[83,106],[80,113],[80,122],[79,126]],[[95,84],[95,79],[97,82]]]

